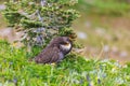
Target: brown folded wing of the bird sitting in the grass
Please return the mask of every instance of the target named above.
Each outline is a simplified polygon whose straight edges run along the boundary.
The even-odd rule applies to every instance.
[[[40,63],[52,63],[60,59],[58,47],[47,47],[41,54],[36,57],[36,62]]]

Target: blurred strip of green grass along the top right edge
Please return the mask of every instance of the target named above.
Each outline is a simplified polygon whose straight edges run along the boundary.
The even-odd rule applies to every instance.
[[[127,1],[117,0],[79,0],[76,6],[80,12],[100,15],[130,15],[130,5]]]

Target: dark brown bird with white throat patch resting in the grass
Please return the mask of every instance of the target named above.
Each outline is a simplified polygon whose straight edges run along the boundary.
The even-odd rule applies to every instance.
[[[69,37],[56,37],[51,40],[49,45],[35,57],[37,63],[58,63],[73,47]]]

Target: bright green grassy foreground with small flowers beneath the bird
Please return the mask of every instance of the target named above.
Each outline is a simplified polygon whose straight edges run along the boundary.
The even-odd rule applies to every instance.
[[[0,85],[4,86],[129,86],[130,64],[86,59],[69,54],[58,64],[28,61],[25,48],[0,41]],[[38,53],[38,52],[37,52]]]

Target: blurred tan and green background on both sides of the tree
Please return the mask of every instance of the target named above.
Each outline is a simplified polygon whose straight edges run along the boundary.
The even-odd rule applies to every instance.
[[[0,0],[0,11],[5,6]],[[78,0],[73,9],[80,12],[73,28],[83,45],[78,53],[86,57],[130,61],[130,0]],[[0,12],[0,39],[13,42],[21,33],[6,27]]]

